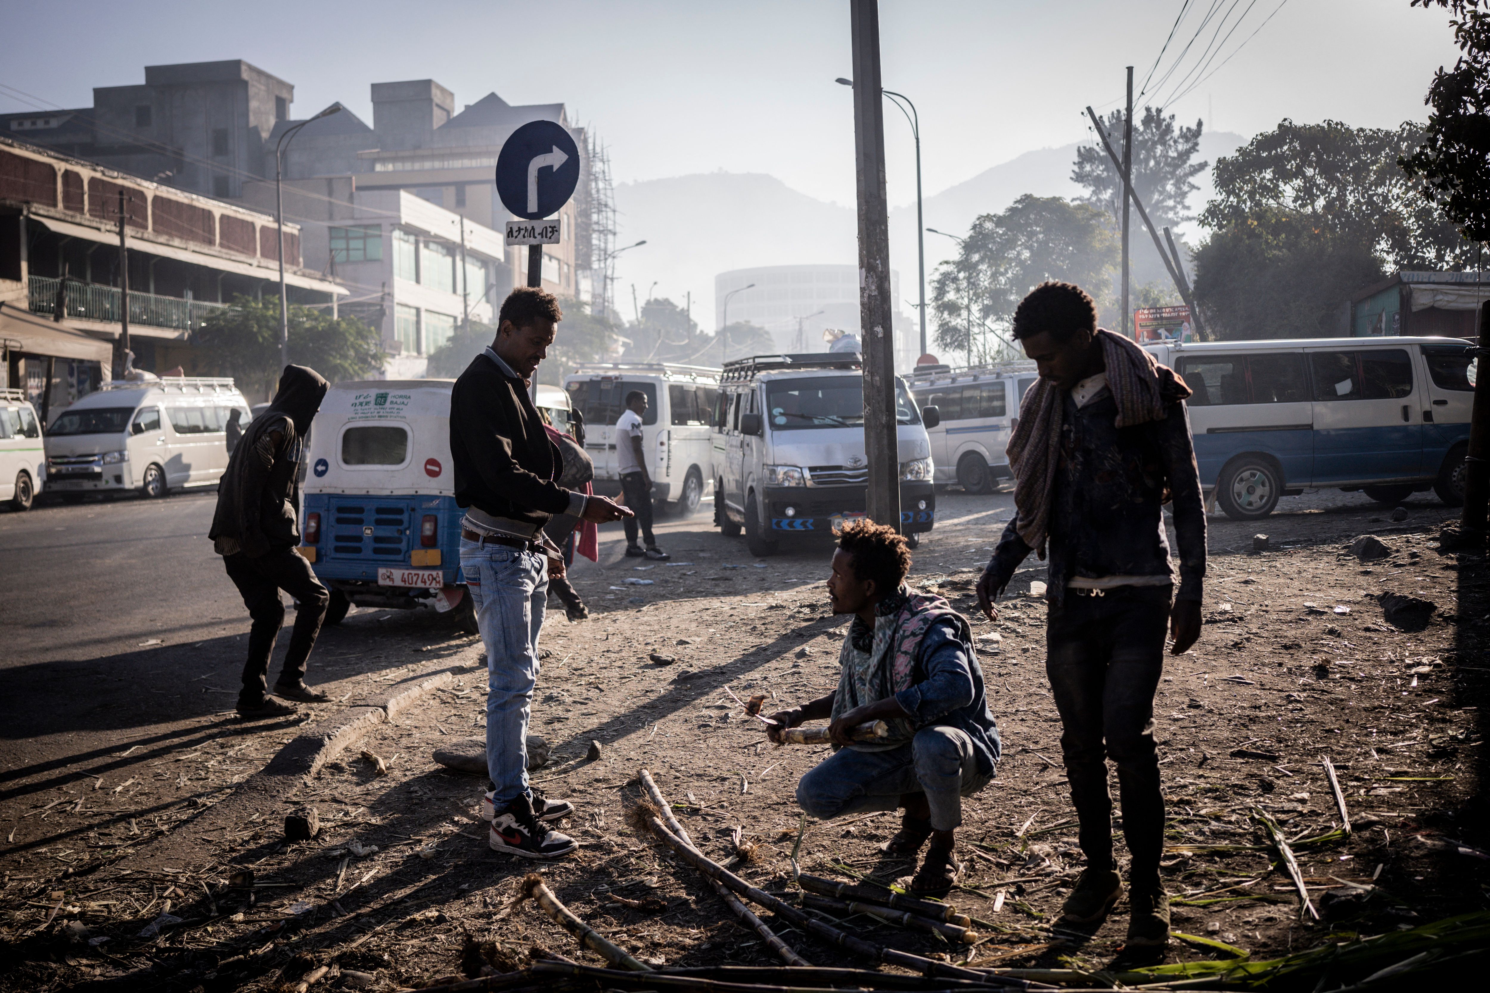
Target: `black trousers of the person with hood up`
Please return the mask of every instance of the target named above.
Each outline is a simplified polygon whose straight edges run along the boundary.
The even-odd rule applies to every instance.
[[[316,636],[320,634],[320,622],[326,616],[331,594],[316,579],[310,563],[291,548],[258,558],[238,552],[224,557],[222,564],[228,569],[228,579],[243,594],[243,606],[253,619],[249,628],[249,660],[243,664],[243,689],[238,692],[238,706],[252,707],[264,703],[268,691],[270,655],[274,652],[280,625],[285,624],[280,590],[299,601],[295,627],[289,636],[289,651],[285,652],[285,664],[280,665],[276,680],[286,686],[298,686],[305,679],[305,662],[310,649],[316,646]]]

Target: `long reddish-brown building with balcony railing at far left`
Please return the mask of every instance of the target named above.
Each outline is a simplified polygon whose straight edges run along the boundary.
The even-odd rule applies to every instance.
[[[6,386],[39,406],[86,393],[118,359],[121,214],[137,368],[197,372],[188,336],[210,313],[240,293],[279,293],[273,216],[0,135],[0,350]],[[285,225],[285,261],[289,298],[335,313],[347,290],[301,268],[297,225]]]

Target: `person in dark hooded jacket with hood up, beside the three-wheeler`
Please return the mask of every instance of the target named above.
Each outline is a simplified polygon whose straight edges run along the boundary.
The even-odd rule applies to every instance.
[[[294,706],[268,695],[270,655],[285,622],[280,590],[295,597],[299,607],[274,695],[301,703],[328,700],[305,685],[305,664],[331,594],[295,551],[305,435],[326,386],[314,369],[285,366],[274,402],[244,429],[218,484],[218,511],[207,537],[253,619],[238,692],[238,715],[250,721],[295,713]]]

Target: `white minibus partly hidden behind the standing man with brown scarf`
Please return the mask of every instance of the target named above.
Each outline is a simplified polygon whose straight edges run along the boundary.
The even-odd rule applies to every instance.
[[[1033,362],[968,369],[916,366],[910,395],[919,406],[934,406],[942,415],[936,427],[927,429],[939,484],[992,493],[998,479],[1013,479],[1004,450],[1025,390],[1037,378]]]

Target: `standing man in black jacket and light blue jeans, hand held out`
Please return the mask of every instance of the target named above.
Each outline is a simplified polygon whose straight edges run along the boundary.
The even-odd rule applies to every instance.
[[[563,314],[553,293],[520,287],[502,302],[496,339],[456,380],[450,393],[450,457],[460,521],[460,572],[487,651],[486,765],[492,792],[481,813],[492,820],[495,852],[553,859],[574,838],[548,828],[574,805],[548,799],[527,782],[527,716],[538,683],[538,631],[548,575],[563,569],[542,533],[554,514],[605,523],[630,511],[605,497],[559,485],[557,447],[529,397]]]

